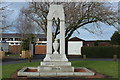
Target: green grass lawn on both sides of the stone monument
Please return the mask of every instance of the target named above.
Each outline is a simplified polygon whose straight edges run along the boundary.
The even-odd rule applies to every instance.
[[[3,78],[10,78],[10,76],[18,69],[23,67],[37,67],[40,62],[26,62],[19,64],[3,65]],[[72,61],[74,67],[87,67],[96,70],[113,78],[118,78],[118,62],[115,61]]]

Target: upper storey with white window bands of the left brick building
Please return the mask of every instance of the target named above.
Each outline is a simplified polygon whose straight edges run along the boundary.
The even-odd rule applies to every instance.
[[[0,34],[2,37],[0,41],[6,41],[9,45],[20,45],[21,44],[21,34],[18,33],[3,33]],[[35,34],[37,45],[41,44],[41,41],[46,41],[46,36],[44,34]]]

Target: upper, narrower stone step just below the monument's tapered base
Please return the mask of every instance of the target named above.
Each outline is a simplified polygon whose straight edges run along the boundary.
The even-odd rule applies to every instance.
[[[67,61],[44,61],[41,62],[41,66],[71,66],[71,62],[67,62]]]

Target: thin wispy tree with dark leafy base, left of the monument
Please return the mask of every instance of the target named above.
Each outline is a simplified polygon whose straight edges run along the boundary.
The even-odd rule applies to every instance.
[[[22,50],[29,50],[29,44],[34,44],[35,40],[34,23],[22,13],[19,14],[16,22],[16,30],[21,34]]]

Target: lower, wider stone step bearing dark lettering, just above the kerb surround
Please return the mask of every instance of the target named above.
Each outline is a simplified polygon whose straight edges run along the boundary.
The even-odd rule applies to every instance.
[[[74,67],[71,66],[39,66],[39,72],[74,72]]]

